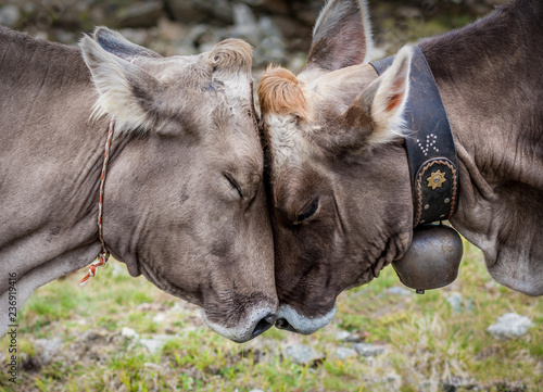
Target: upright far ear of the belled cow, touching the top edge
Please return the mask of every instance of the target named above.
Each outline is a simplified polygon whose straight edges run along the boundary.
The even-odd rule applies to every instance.
[[[317,18],[305,68],[328,71],[369,61],[371,26],[366,0],[329,0]]]

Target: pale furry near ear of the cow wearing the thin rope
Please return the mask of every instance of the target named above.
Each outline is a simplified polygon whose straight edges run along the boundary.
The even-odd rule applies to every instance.
[[[79,47],[99,94],[93,117],[115,116],[116,129],[125,131],[146,131],[155,126],[154,97],[161,87],[159,80],[139,66],[105,51],[88,36],[80,40]]]

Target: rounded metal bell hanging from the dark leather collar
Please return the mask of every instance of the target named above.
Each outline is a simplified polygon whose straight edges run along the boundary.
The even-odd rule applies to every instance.
[[[424,293],[456,279],[463,253],[456,230],[443,225],[421,225],[414,229],[407,252],[392,266],[402,283]]]

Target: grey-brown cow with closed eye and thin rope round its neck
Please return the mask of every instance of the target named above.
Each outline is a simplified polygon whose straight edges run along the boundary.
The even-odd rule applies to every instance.
[[[207,325],[233,341],[273,326],[278,302],[251,62],[240,40],[162,58],[103,27],[80,50],[0,28],[1,333],[15,312],[9,294],[18,311],[39,286],[99,253],[111,116],[108,251],[130,275],[202,306]]]

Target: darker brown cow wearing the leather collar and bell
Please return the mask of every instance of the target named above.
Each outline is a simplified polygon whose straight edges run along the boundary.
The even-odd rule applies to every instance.
[[[413,201],[402,127],[412,48],[378,77],[364,1],[331,0],[300,75],[258,86],[276,244],[277,326],[311,333],[334,301],[407,251]],[[454,227],[498,282],[543,294],[543,2],[515,0],[424,40],[456,147]],[[407,136],[408,137],[408,136]]]

